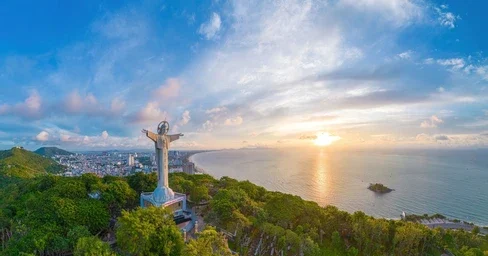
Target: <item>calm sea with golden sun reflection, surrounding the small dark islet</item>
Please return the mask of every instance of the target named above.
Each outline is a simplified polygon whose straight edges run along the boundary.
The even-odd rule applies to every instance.
[[[441,213],[488,225],[488,150],[244,149],[200,153],[192,161],[206,173],[249,180],[348,212],[398,218]],[[380,182],[395,191],[367,189]]]

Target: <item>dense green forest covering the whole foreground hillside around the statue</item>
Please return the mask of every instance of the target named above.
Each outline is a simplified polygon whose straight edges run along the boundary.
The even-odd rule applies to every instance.
[[[2,177],[3,179],[3,177]],[[484,236],[375,219],[248,181],[170,174],[208,228],[187,244],[164,209],[140,209],[157,175],[16,179],[0,190],[0,255],[483,255]],[[227,235],[227,240],[222,232]],[[116,234],[116,235],[115,235]],[[108,242],[115,242],[110,248]]]

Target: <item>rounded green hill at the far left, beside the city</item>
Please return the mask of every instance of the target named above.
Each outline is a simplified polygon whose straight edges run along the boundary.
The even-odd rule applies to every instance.
[[[65,166],[50,158],[22,148],[0,151],[0,174],[9,177],[29,178],[46,173],[62,173],[65,169]]]

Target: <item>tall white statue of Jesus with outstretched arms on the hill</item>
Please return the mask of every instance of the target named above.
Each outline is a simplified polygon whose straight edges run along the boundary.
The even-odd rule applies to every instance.
[[[158,165],[158,187],[154,190],[153,197],[157,203],[164,203],[174,198],[174,192],[168,185],[168,150],[169,144],[183,136],[183,134],[167,135],[169,123],[162,121],[158,125],[158,133],[153,133],[146,129],[142,132],[154,141],[156,148],[156,163]]]

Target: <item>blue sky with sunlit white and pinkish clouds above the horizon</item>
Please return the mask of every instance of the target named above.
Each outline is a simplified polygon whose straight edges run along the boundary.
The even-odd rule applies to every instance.
[[[3,1],[0,148],[485,147],[485,1]]]

